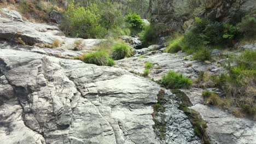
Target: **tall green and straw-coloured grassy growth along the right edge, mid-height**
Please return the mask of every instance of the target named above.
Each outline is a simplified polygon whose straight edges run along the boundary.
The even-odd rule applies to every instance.
[[[229,56],[228,73],[215,78],[231,105],[241,107],[247,116],[256,119],[256,51],[246,50],[240,56]],[[224,101],[226,105],[226,101]]]

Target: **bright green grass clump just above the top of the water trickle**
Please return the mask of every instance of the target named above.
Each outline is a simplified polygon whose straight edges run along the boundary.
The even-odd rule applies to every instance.
[[[162,77],[161,82],[167,88],[189,88],[193,84],[192,80],[174,71],[168,71],[168,73]]]

